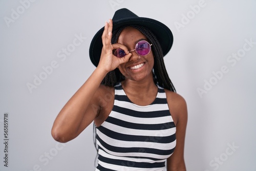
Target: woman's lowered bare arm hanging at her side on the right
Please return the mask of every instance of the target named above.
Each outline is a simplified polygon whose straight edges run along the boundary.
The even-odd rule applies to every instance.
[[[170,113],[176,124],[176,147],[172,156],[167,159],[167,171],[185,171],[184,143],[187,125],[186,102],[177,93],[168,92],[167,101]]]

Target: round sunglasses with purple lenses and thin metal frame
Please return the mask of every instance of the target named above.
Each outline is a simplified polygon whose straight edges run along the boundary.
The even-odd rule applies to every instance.
[[[132,51],[135,51],[138,55],[145,56],[148,53],[150,53],[151,46],[152,46],[152,44],[150,44],[146,40],[140,40],[139,42],[137,42],[135,49],[128,51],[128,52],[130,53]],[[126,54],[125,54],[124,50],[122,50],[121,48],[118,48],[117,50],[115,50],[114,55],[117,57],[124,57]]]

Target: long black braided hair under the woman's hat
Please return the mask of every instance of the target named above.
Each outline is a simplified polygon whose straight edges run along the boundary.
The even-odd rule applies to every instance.
[[[164,60],[163,60],[163,52],[162,48],[159,44],[159,41],[157,40],[157,37],[151,32],[150,29],[145,28],[143,26],[139,25],[129,25],[137,30],[139,30],[142,34],[146,36],[148,41],[150,41],[152,46],[152,52],[154,55],[154,67],[153,67],[153,79],[156,84],[158,84],[160,87],[163,87],[164,89],[176,92],[174,85],[172,81],[170,80],[168,73],[166,71]],[[116,44],[119,38],[120,33],[122,30],[128,26],[120,27],[112,32],[112,39],[111,43]],[[124,80],[124,76],[121,74],[118,68],[116,68],[113,71],[110,71],[104,79],[102,80],[102,84],[105,86],[115,86],[117,82],[120,82]]]

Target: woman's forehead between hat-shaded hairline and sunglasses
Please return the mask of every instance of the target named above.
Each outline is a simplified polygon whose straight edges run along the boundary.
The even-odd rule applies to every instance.
[[[133,27],[125,27],[119,37],[118,37],[118,42],[121,44],[127,41],[137,41],[139,39],[146,39],[146,36],[142,34],[139,30],[133,28]]]

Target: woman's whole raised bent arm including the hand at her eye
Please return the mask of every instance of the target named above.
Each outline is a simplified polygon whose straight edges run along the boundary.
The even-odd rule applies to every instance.
[[[98,67],[63,106],[53,123],[51,133],[56,141],[68,142],[74,139],[86,129],[95,117],[100,115],[102,106],[97,97],[102,94],[102,89],[104,89],[103,86],[100,86],[102,79],[109,71],[117,68],[120,63],[126,62],[131,56],[131,54],[127,54],[123,58],[118,58],[112,54],[113,49],[119,47],[128,51],[123,45],[111,45],[112,28],[112,20],[105,23],[102,34],[103,47]],[[91,108],[92,105],[94,105],[94,109]],[[95,111],[95,109],[97,110]]]

